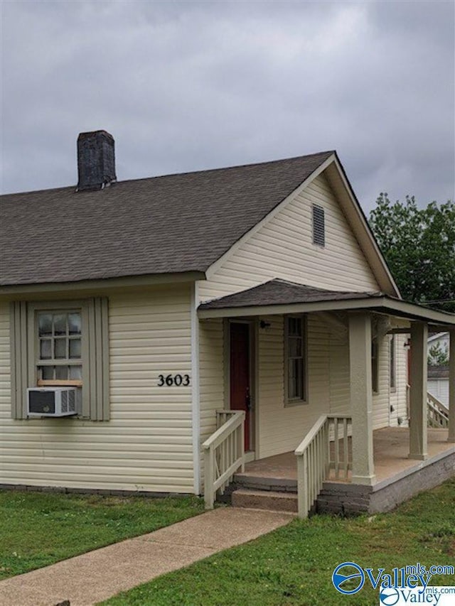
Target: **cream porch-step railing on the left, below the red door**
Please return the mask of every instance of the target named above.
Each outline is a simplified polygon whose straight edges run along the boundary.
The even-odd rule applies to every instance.
[[[245,411],[216,411],[217,431],[203,443],[205,509],[213,509],[232,476],[245,471]]]

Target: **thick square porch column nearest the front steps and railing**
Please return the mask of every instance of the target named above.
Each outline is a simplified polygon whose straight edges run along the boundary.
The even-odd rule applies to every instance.
[[[353,417],[353,475],[355,484],[373,484],[373,386],[371,383],[371,318],[349,316],[350,411]]]

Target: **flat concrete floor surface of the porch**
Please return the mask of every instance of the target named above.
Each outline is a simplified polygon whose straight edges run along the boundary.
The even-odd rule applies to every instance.
[[[454,450],[454,444],[447,442],[449,435],[446,429],[428,429],[428,458],[449,453]],[[409,429],[401,427],[385,427],[373,431],[373,453],[376,482],[390,480],[392,477],[412,470],[416,465],[424,465],[424,461],[408,458]],[[286,483],[296,482],[297,464],[294,451],[252,461],[245,465],[244,473],[237,473],[237,478],[257,477],[287,480]],[[331,481],[334,481],[330,478]],[[343,480],[340,481],[343,482]]]

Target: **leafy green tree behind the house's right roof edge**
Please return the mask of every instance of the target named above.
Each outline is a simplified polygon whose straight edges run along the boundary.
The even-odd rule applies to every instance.
[[[455,203],[419,209],[381,193],[370,227],[403,298],[455,313]]]

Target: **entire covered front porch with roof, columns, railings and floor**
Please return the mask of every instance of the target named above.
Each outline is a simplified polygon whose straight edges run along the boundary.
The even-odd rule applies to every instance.
[[[296,492],[302,517],[315,506],[390,509],[454,474],[454,315],[280,280],[204,303],[198,314],[225,405],[203,442],[208,508],[234,475],[254,487],[261,470],[281,479],[284,494]],[[427,395],[427,337],[442,328],[450,334],[449,408],[430,406]],[[403,335],[398,351],[393,340]],[[444,429],[435,433],[438,420]]]

